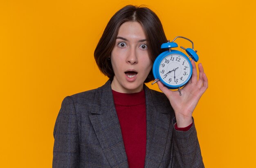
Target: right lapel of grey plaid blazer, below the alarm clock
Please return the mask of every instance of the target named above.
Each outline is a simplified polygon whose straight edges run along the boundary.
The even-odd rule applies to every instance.
[[[168,136],[168,129],[170,124],[170,106],[159,107],[155,102],[157,96],[152,91],[145,88],[146,94],[146,120],[147,120],[147,143],[146,143],[146,157],[145,167],[159,167],[166,146],[166,139]],[[164,103],[163,103],[164,104]],[[166,105],[165,105],[166,106]]]

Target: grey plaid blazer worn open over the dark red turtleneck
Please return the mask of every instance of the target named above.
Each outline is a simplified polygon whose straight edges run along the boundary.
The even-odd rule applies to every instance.
[[[128,168],[110,84],[63,100],[54,127],[53,168]],[[144,90],[145,168],[204,167],[195,125],[175,130],[166,96],[146,85]]]

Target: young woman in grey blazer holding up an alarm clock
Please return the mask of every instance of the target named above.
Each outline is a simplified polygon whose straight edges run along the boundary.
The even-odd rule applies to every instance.
[[[53,167],[204,167],[193,110],[208,87],[201,64],[179,92],[157,82],[152,65],[167,39],[156,14],[126,6],[110,19],[94,52],[110,79],[67,96],[54,127]]]

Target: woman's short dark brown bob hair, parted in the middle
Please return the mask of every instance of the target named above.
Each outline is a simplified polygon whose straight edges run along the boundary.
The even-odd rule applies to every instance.
[[[167,42],[162,23],[152,10],[147,7],[127,5],[117,11],[108,22],[94,51],[94,59],[100,71],[111,80],[113,80],[115,74],[112,69],[111,61],[108,58],[115,46],[119,27],[122,23],[129,21],[139,22],[144,29],[148,42],[148,55],[152,63],[155,58],[163,52],[160,48],[162,43]],[[151,70],[144,82],[147,83],[153,80],[154,76]]]

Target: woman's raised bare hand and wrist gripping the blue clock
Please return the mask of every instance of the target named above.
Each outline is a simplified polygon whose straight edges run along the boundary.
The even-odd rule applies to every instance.
[[[175,112],[177,127],[186,127],[192,123],[192,113],[202,94],[208,88],[208,79],[201,63],[198,64],[199,78],[195,62],[191,60],[192,76],[190,81],[181,89],[182,96],[176,91],[169,90],[160,81],[159,89],[167,96]]]

